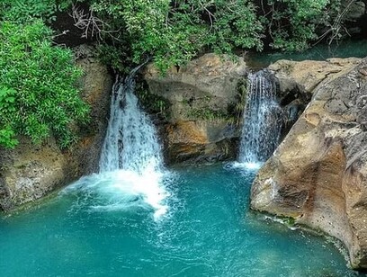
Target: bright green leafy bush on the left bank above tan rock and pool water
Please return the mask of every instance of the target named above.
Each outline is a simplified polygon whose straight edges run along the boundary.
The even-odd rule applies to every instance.
[[[14,147],[17,134],[40,143],[52,133],[67,147],[73,126],[88,114],[71,51],[52,47],[51,31],[40,21],[0,24],[0,145]]]

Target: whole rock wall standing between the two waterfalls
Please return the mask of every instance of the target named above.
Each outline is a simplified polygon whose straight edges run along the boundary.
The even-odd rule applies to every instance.
[[[233,124],[238,82],[246,64],[206,54],[186,67],[173,67],[161,76],[153,65],[144,73],[149,91],[170,103],[162,131],[169,163],[205,162],[233,158],[238,131]]]

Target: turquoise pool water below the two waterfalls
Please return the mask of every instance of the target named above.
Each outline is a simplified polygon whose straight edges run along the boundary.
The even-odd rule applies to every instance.
[[[168,210],[85,179],[31,210],[0,218],[1,276],[353,276],[324,237],[248,208],[254,172],[179,167]],[[119,194],[120,193],[120,194]],[[120,203],[120,204],[119,204]],[[134,204],[135,203],[135,204]]]

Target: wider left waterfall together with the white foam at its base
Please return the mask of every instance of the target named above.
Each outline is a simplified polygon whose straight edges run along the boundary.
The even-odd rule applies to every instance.
[[[141,67],[141,66],[140,66]],[[82,202],[93,198],[92,210],[154,209],[154,219],[166,214],[165,181],[157,132],[134,95],[132,70],[112,87],[111,115],[103,142],[100,173],[86,176],[67,188],[84,192]]]

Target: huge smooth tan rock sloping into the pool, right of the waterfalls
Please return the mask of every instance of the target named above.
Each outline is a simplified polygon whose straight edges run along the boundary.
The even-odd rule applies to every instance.
[[[257,174],[251,206],[340,239],[351,265],[365,269],[367,58],[340,70],[335,61],[329,61],[331,72],[320,82],[308,79],[315,84],[308,86],[312,101]],[[324,62],[312,64],[309,68],[324,67]]]

